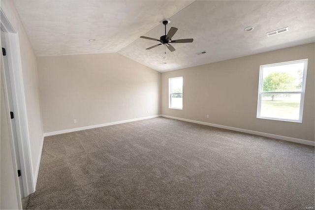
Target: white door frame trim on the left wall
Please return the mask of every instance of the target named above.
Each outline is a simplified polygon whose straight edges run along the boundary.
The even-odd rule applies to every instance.
[[[4,31],[5,34],[6,55],[8,61],[8,68],[10,71],[10,84],[13,99],[13,108],[15,111],[14,118],[16,123],[16,133],[21,162],[21,175],[24,188],[23,191],[24,195],[28,196],[35,191],[35,186],[33,182],[32,173],[33,172],[31,156],[32,153],[30,147],[30,135],[23,83],[19,34],[18,30],[14,29],[10,24],[2,8],[0,15],[1,29]],[[14,173],[16,173],[17,176],[17,171],[15,171]]]

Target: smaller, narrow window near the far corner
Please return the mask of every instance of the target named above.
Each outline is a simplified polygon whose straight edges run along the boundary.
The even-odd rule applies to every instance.
[[[169,108],[183,109],[183,77],[169,78]]]

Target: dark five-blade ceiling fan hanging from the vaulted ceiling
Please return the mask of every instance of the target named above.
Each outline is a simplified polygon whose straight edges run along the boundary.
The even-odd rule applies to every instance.
[[[168,24],[168,21],[163,21],[162,22],[163,25],[165,26],[165,35],[161,36],[159,39],[155,39],[155,38],[150,38],[147,36],[140,36],[140,38],[144,38],[144,39],[150,39],[150,40],[155,40],[160,42],[160,44],[154,45],[152,47],[147,48],[146,50],[150,50],[152,48],[158,47],[158,45],[165,45],[169,51],[173,52],[175,51],[175,48],[170,44],[170,43],[189,43],[192,42],[193,39],[177,39],[177,40],[172,40],[172,37],[174,36],[174,34],[176,33],[176,31],[178,29],[171,27],[171,29],[168,31],[168,33],[166,34],[166,25]]]

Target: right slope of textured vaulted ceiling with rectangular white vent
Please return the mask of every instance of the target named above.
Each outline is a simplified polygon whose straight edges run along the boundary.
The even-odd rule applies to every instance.
[[[151,50],[156,41],[138,38],[119,53],[160,72],[238,58],[315,41],[315,1],[195,1],[170,18],[178,28],[174,39],[194,38],[192,43],[172,44]],[[245,32],[244,28],[254,30]],[[288,32],[267,37],[266,32],[289,27]],[[159,38],[163,26],[143,34]],[[196,55],[206,51],[206,54]],[[160,64],[167,62],[167,64]]]

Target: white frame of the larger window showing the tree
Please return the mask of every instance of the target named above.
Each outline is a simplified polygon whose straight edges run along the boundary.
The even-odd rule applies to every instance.
[[[280,66],[280,65],[287,65],[287,64],[295,64],[295,63],[302,63],[304,62],[304,69],[303,69],[303,79],[302,79],[302,90],[301,91],[279,91],[279,92],[264,92],[263,88],[263,68],[265,67],[273,67],[273,66]],[[260,65],[259,69],[259,84],[258,84],[258,104],[257,104],[257,118],[258,119],[266,119],[266,120],[280,120],[280,121],[289,121],[289,122],[302,122],[303,118],[303,108],[304,108],[304,96],[305,96],[305,86],[306,86],[306,75],[307,75],[307,67],[308,67],[308,59],[302,60],[292,60],[292,61],[285,61],[279,63],[272,63],[272,64],[265,64]],[[271,118],[271,117],[261,117],[261,101],[262,101],[262,94],[301,94],[300,99],[300,111],[299,111],[299,119],[292,120],[292,119],[284,119],[284,118]]]

